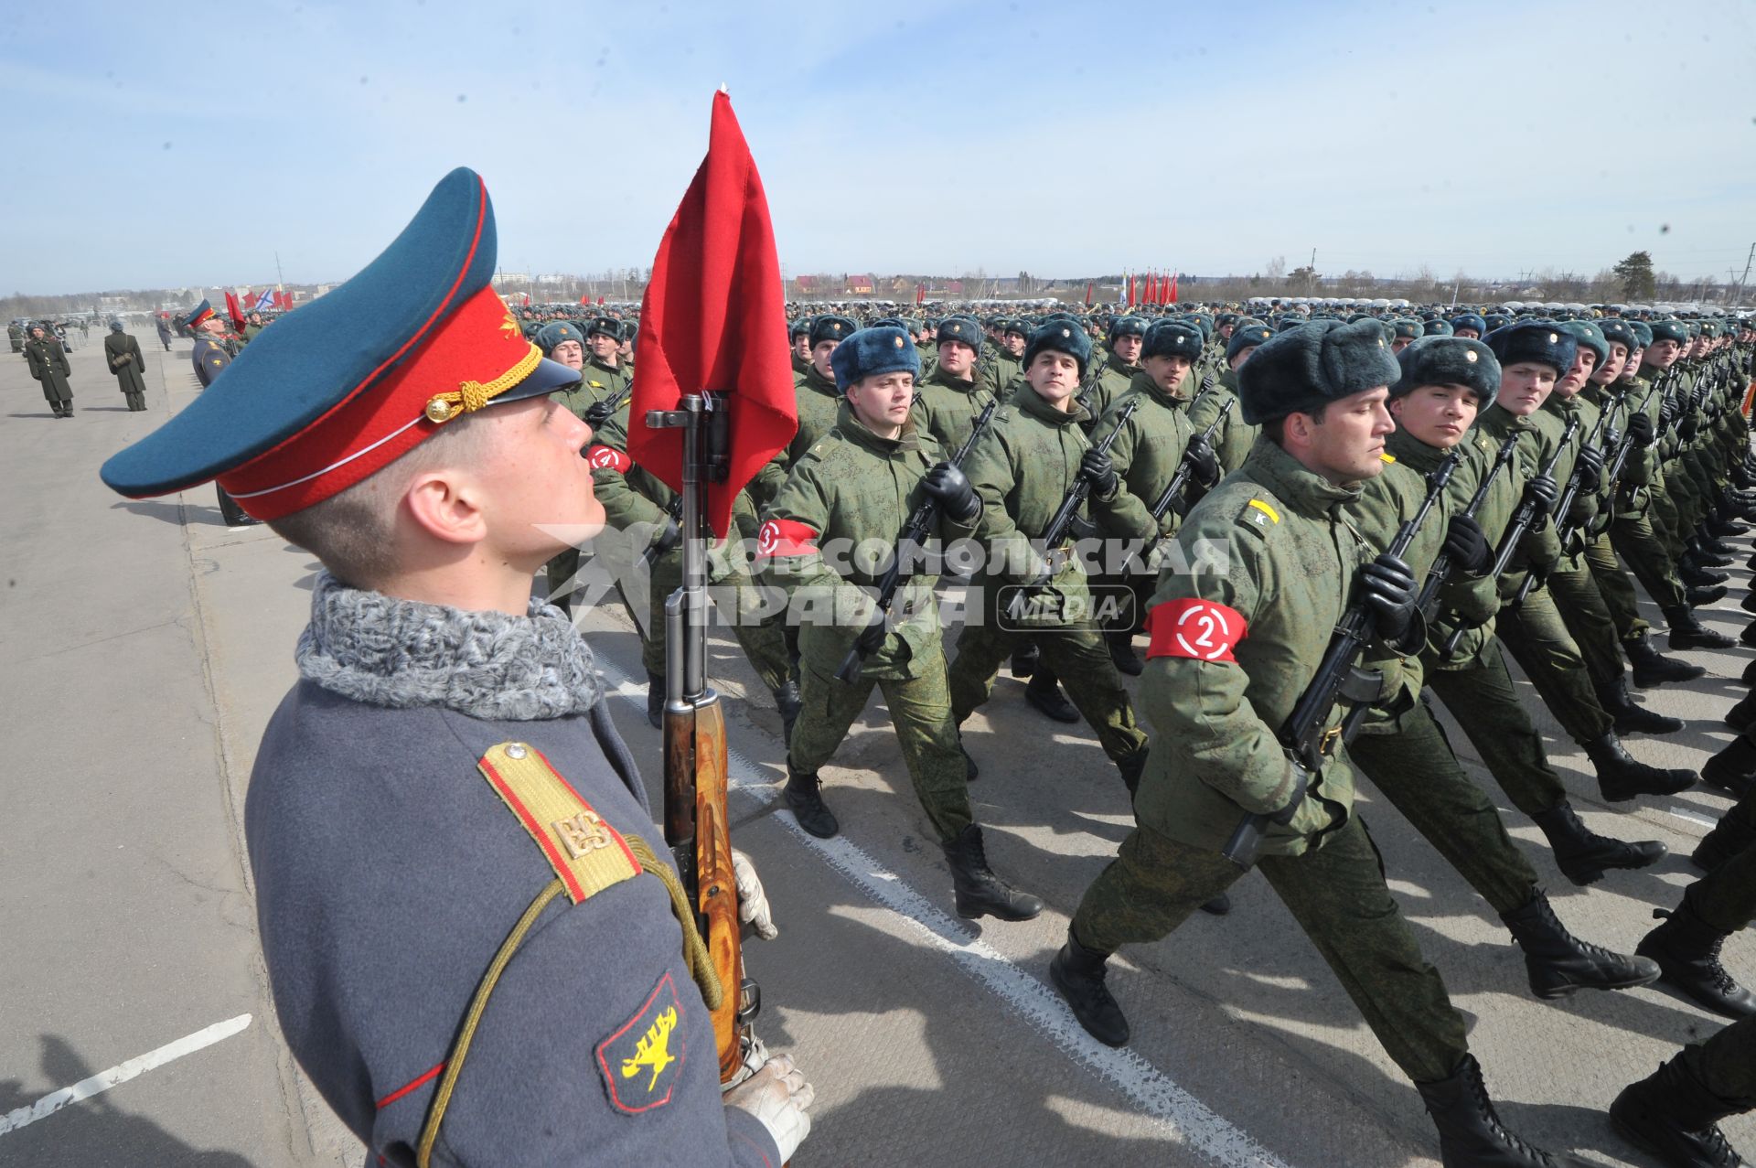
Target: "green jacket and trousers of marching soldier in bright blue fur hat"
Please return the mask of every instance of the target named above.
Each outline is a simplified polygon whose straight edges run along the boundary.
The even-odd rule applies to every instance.
[[[939,444],[913,418],[899,437],[883,439],[843,402],[834,429],[799,458],[762,513],[759,548],[773,555],[759,559],[757,567],[764,581],[790,594],[799,624],[801,710],[792,727],[792,769],[817,773],[829,762],[876,685],[890,708],[920,806],[939,841],[950,843],[975,820],[952,720],[936,578],[915,574],[897,588],[890,608],[896,624],[883,645],[866,657],[853,683],[839,681],[836,671],[867,625],[871,590],[883,564],[860,564],[855,553],[848,557],[850,574],[839,576],[817,544],[892,546],[925,497],[922,479],[941,457]],[[797,530],[787,536],[785,525],[802,525],[810,536]],[[783,534],[771,534],[776,530]],[[957,523],[941,509],[932,536],[950,541],[973,530],[973,520]]]

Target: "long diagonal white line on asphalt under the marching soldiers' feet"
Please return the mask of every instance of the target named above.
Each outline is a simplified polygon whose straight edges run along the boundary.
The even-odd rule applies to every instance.
[[[615,666],[597,659],[597,667],[611,681],[611,692],[641,706],[644,713],[646,687],[636,685]],[[729,790],[739,797],[774,803],[774,783],[762,778],[757,766],[743,752],[727,746]],[[964,973],[1003,998],[1013,1013],[1027,1020],[1043,1038],[1052,1042],[1075,1063],[1127,1096],[1148,1117],[1178,1135],[1189,1147],[1215,1164],[1233,1168],[1287,1168],[1285,1161],[1210,1110],[1201,1100],[1178,1087],[1147,1059],[1133,1050],[1112,1049],[1085,1033],[1061,996],[1013,964],[997,948],[952,920],[931,901],[915,892],[903,878],[889,871],[845,836],[818,840],[799,827],[792,811],[774,817],[792,834],[864,890],[883,908],[906,920],[913,933],[932,948],[952,957]]]

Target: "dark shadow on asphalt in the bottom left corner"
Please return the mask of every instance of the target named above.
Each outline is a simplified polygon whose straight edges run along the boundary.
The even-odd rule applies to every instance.
[[[60,1035],[42,1036],[42,1075],[72,1085],[97,1071]],[[0,1078],[0,1115],[32,1107],[16,1078]],[[118,1159],[121,1156],[123,1159]],[[28,1128],[0,1135],[0,1161],[9,1164],[114,1164],[139,1168],[253,1168],[235,1152],[204,1152],[170,1135],[146,1115],[116,1107],[109,1092],[44,1115]]]

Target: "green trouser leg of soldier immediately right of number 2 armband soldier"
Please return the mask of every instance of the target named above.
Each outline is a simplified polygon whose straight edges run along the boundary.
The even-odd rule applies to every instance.
[[[1512,843],[1500,808],[1459,766],[1426,701],[1401,715],[1394,734],[1356,738],[1347,757],[1496,913],[1529,903],[1536,869]]]

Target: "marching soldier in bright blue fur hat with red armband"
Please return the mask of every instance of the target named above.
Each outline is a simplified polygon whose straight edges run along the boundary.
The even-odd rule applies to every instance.
[[[982,827],[969,808],[964,761],[946,692],[934,576],[917,573],[897,588],[894,616],[869,590],[883,566],[859,564],[841,576],[822,548],[889,544],[925,499],[938,504],[929,539],[975,530],[980,501],[913,415],[920,357],[901,328],[862,328],[834,351],[836,383],[846,400],[836,427],[794,465],[762,515],[759,555],[766,580],[790,592],[799,622],[802,713],[787,750],[787,806],[818,838],[839,831],[824,804],[822,768],[846,738],[873,687],[883,692],[903,746],[903,762],[952,869],[957,913],[1029,920],[1043,903],[1006,885],[987,864]],[[897,546],[892,555],[925,548]],[[839,671],[850,650],[855,673]]]

